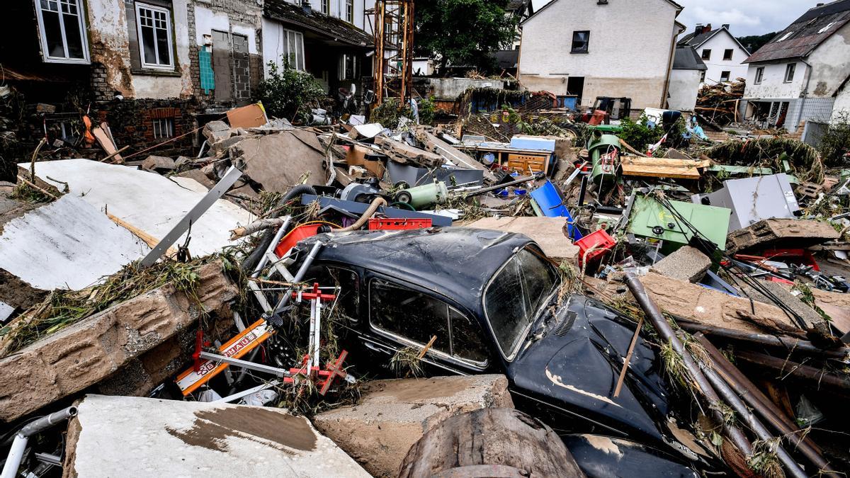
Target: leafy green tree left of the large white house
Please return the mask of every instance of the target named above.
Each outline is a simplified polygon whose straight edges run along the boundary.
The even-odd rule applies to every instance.
[[[505,13],[507,0],[424,0],[416,2],[416,53],[446,65],[494,65],[492,52],[509,48],[517,19]]]

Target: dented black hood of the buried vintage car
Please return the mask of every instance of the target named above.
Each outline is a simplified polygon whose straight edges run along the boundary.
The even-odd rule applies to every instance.
[[[508,364],[519,393],[590,418],[621,435],[669,442],[660,424],[669,411],[660,360],[638,339],[620,395],[614,397],[634,322],[580,295],[564,301],[545,336],[524,344]],[[553,428],[567,428],[552,424]]]

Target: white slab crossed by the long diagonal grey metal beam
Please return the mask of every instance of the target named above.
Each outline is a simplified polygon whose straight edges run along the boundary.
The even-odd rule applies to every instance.
[[[47,177],[67,182],[71,194],[83,195],[82,199],[94,208],[108,209],[156,239],[165,237],[207,194],[207,189],[193,179],[172,181],[156,173],[88,159],[37,162],[36,175],[58,187],[64,186]],[[192,256],[215,253],[232,244],[229,230],[246,225],[251,219],[245,209],[219,199],[192,225]]]

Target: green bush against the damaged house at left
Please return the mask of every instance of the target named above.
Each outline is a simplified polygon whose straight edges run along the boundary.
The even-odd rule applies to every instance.
[[[257,88],[258,100],[272,117],[286,118],[292,122],[308,122],[310,103],[325,98],[327,94],[309,73],[297,71],[288,63],[280,70],[269,61],[269,77]]]

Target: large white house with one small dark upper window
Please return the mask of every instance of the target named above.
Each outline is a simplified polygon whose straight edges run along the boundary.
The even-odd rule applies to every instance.
[[[524,20],[519,82],[532,91],[664,107],[682,7],[672,0],[553,0]]]

